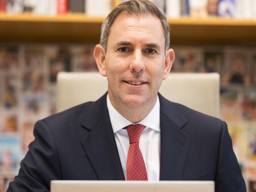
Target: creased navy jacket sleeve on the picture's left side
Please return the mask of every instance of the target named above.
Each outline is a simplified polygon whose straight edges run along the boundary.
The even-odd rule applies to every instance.
[[[35,124],[35,140],[20,163],[19,174],[9,183],[7,192],[49,192],[50,181],[61,179],[59,157],[54,138],[43,120]]]

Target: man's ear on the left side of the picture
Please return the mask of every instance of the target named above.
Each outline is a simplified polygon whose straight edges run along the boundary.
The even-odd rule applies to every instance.
[[[100,44],[96,44],[94,48],[93,56],[96,60],[100,74],[106,77],[106,67],[105,67],[106,53],[104,48]]]

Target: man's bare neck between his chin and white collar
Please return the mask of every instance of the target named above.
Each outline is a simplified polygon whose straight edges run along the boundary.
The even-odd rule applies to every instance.
[[[113,105],[113,107],[115,108],[115,110],[118,111],[118,113],[120,113],[122,116],[124,116],[130,122],[138,123],[141,120],[143,120],[143,118],[145,118],[145,116],[147,116],[147,114],[156,105],[157,96],[156,96],[156,98],[154,98],[153,101],[149,101],[149,102],[147,102],[145,104],[141,104],[137,107],[129,107],[129,106],[125,105],[124,103],[120,103],[120,104],[118,103],[118,105],[117,105],[115,102],[113,102],[113,98],[111,98],[111,96],[109,96],[109,100],[110,100],[111,104]]]

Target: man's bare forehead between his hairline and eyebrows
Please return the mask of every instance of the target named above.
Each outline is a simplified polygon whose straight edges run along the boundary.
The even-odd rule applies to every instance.
[[[165,42],[163,27],[158,17],[151,14],[131,15],[127,12],[120,13],[114,20],[108,41],[118,41],[127,38],[152,38]]]

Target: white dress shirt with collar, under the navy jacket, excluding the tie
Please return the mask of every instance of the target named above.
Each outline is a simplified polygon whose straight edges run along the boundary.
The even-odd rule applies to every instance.
[[[107,96],[107,106],[111,125],[113,127],[115,142],[122,164],[122,170],[126,179],[126,159],[129,150],[129,137],[127,130],[122,129],[130,124],[128,119],[124,118],[113,107]],[[160,102],[157,98],[154,108],[138,124],[146,126],[141,133],[139,148],[145,161],[148,181],[159,181],[160,175]]]

